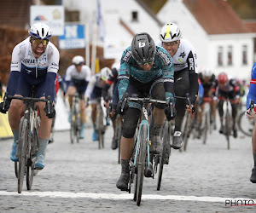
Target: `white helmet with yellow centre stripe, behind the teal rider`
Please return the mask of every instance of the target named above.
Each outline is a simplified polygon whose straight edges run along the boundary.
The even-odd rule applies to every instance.
[[[182,33],[176,24],[166,24],[161,29],[160,41],[165,43],[176,42],[181,36]]]

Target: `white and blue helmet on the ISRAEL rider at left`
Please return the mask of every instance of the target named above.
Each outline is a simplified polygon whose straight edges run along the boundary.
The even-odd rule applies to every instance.
[[[28,34],[34,39],[44,40],[48,40],[52,36],[49,26],[42,22],[38,22],[30,26]]]

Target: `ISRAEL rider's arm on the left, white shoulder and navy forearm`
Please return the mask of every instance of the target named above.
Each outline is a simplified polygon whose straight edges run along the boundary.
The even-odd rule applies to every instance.
[[[10,77],[7,84],[7,92],[9,95],[15,95],[21,70],[21,60],[25,56],[25,45],[20,46],[19,44],[15,46],[12,53],[12,61],[10,66]]]

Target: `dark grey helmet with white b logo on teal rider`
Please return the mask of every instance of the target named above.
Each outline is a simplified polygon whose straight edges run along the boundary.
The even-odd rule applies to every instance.
[[[131,42],[131,55],[138,63],[154,60],[155,44],[147,32],[137,33]]]

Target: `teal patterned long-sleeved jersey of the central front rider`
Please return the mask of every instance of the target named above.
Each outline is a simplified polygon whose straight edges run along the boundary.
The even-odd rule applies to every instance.
[[[172,57],[166,49],[156,47],[154,63],[149,71],[144,71],[131,55],[131,47],[125,49],[119,69],[119,100],[122,100],[129,85],[129,79],[134,78],[141,83],[153,82],[157,78],[162,78],[166,90],[166,101],[173,97],[173,67]]]

